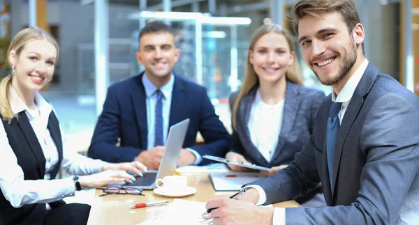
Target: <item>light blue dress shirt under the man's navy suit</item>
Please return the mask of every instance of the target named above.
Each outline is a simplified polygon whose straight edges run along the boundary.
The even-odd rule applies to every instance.
[[[147,107],[147,149],[154,148],[154,124],[156,120],[155,109],[157,102],[157,87],[150,81],[147,75],[142,75],[142,84],[145,88],[145,105]],[[170,81],[161,86],[160,91],[163,93],[163,98],[161,99],[162,104],[162,114],[163,114],[163,143],[166,144],[168,138],[169,130],[169,119],[170,119],[170,107],[172,106],[172,91],[173,85],[175,84],[175,76],[170,77]],[[195,155],[196,160],[193,164],[200,164],[203,161],[201,155],[192,148],[186,148]],[[134,159],[135,160],[135,159]]]

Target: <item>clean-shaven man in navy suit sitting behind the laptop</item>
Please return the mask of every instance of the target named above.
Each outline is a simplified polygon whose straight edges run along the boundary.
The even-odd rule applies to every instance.
[[[145,72],[108,88],[89,157],[107,162],[136,159],[148,169],[158,169],[170,126],[185,118],[190,123],[178,166],[206,164],[209,161],[203,155],[226,155],[229,134],[206,89],[173,72],[179,56],[173,29],[163,22],[150,22],[138,40],[135,56]],[[196,143],[198,131],[204,145]]]

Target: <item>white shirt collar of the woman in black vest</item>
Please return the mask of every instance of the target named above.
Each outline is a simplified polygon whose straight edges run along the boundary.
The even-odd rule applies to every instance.
[[[35,102],[38,105],[41,115],[50,115],[52,106],[38,92],[35,93]],[[38,117],[37,115],[31,114],[31,111],[28,109],[27,105],[24,104],[22,98],[20,98],[19,94],[17,94],[13,86],[10,86],[10,107],[12,108],[13,114],[18,114],[21,111],[27,111],[29,116]]]

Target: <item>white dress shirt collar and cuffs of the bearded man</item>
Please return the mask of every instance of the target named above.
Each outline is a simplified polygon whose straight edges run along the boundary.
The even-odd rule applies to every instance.
[[[348,108],[349,102],[351,102],[351,98],[353,93],[355,92],[356,87],[360,83],[362,75],[364,75],[365,70],[367,70],[368,60],[365,59],[360,67],[353,73],[352,77],[348,79],[348,82],[344,85],[344,87],[339,92],[339,95],[336,95],[335,91],[332,91],[332,101],[333,102],[342,102],[341,110],[339,114],[337,114],[339,118],[339,123],[342,123],[344,119],[344,114],[346,109]],[[244,187],[244,189],[255,188],[259,192],[259,200],[256,205],[263,205],[266,202],[266,193],[259,185],[249,185]],[[286,217],[286,208],[275,208],[274,209],[274,216],[272,219],[273,225],[284,225],[285,224],[285,217]]]

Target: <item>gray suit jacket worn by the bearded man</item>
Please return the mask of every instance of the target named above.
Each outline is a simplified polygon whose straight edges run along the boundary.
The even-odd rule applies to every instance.
[[[332,188],[325,148],[331,99],[295,160],[254,183],[267,203],[295,199],[321,181],[335,207],[287,208],[286,224],[419,224],[419,98],[369,63],[339,127]]]

